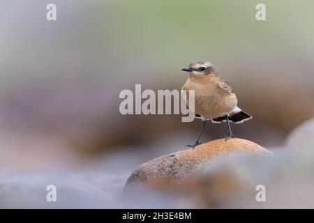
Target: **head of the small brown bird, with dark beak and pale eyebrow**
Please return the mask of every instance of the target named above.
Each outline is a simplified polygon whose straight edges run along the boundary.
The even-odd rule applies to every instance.
[[[214,64],[207,61],[195,61],[190,63],[187,68],[182,68],[181,70],[189,72],[191,75],[217,75],[218,69]]]

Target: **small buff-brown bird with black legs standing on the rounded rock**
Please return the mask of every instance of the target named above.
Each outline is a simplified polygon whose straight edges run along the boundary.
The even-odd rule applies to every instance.
[[[188,101],[188,90],[195,91],[195,117],[202,119],[200,133],[193,145],[194,148],[200,145],[202,130],[208,120],[213,123],[227,122],[228,134],[225,139],[234,137],[230,128],[230,122],[243,123],[252,118],[237,107],[237,96],[232,91],[229,83],[220,77],[218,69],[207,61],[195,61],[190,63],[188,68],[181,69],[189,72],[190,77],[182,86],[187,90],[186,100]]]

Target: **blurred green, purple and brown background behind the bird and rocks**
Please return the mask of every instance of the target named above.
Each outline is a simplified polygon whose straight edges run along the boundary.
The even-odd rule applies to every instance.
[[[257,3],[267,21],[255,20]],[[48,3],[57,21],[46,20]],[[119,113],[123,89],[181,89],[214,63],[253,120],[237,137],[281,148],[314,116],[310,0],[0,2],[0,176],[96,171],[123,187],[138,164],[195,140],[200,121]],[[210,124],[201,141],[225,135]],[[111,175],[110,175],[111,176]],[[0,201],[1,203],[1,201]]]

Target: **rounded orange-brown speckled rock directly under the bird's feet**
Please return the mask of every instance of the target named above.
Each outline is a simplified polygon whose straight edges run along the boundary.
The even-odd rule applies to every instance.
[[[266,148],[246,139],[216,139],[195,148],[157,157],[141,164],[130,174],[126,188],[138,184],[178,183],[202,169],[219,155],[233,152],[268,153]]]

